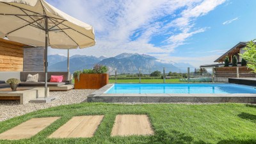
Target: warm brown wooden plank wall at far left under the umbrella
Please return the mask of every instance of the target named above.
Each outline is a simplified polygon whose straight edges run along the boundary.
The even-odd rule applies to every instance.
[[[17,72],[23,70],[24,44],[0,40],[0,71]]]

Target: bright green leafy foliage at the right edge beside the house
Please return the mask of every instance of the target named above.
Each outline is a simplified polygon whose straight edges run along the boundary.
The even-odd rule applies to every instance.
[[[256,39],[255,39],[256,40]],[[251,40],[244,48],[245,52],[240,54],[244,60],[247,61],[247,67],[256,73],[256,45],[255,40]]]

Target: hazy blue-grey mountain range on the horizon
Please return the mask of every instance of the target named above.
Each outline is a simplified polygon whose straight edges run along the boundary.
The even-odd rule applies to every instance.
[[[59,54],[49,55],[49,71],[67,71],[67,57]],[[122,53],[115,57],[106,58],[100,56],[74,55],[70,57],[70,72],[83,70],[84,68],[92,68],[95,64],[106,65],[109,67],[109,74],[114,74],[115,68],[118,74],[141,73],[150,74],[155,70],[163,71],[163,67],[167,72],[184,72],[187,67],[193,67],[189,63],[163,62],[154,56],[138,53]]]

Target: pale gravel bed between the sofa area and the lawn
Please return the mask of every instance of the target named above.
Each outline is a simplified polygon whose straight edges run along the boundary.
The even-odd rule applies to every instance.
[[[87,96],[95,90],[70,90],[67,92],[50,92],[51,96],[58,96],[58,99],[50,103],[28,103],[19,104],[19,100],[0,100],[0,122],[15,116],[24,115],[39,109],[51,108],[67,104],[77,104],[86,101]]]

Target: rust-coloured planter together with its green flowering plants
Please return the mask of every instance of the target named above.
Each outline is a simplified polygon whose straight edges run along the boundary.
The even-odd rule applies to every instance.
[[[108,84],[108,67],[96,64],[92,69],[74,72],[75,89],[99,89]]]

